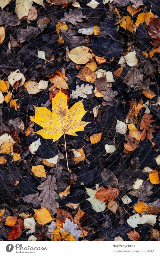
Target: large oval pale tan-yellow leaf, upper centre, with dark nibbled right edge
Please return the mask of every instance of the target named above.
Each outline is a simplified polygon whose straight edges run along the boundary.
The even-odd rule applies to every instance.
[[[68,52],[68,57],[76,64],[86,64],[94,56],[92,50],[86,46],[78,46]]]

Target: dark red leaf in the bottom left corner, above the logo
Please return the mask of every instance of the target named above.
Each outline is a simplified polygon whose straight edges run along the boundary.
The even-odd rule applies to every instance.
[[[17,219],[16,224],[12,226],[12,230],[8,234],[8,240],[17,239],[22,234],[23,225],[24,225],[23,219],[22,218]]]

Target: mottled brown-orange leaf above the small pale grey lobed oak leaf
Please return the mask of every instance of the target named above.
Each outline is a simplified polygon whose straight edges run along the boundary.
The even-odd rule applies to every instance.
[[[84,67],[80,70],[76,77],[78,77],[82,81],[94,83],[97,75],[90,68]]]

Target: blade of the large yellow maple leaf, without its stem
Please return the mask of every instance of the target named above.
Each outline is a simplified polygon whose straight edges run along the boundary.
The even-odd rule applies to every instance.
[[[43,127],[35,133],[45,139],[53,139],[53,142],[63,134],[78,136],[75,132],[84,131],[84,127],[89,124],[81,121],[86,112],[82,100],[68,109],[67,95],[60,90],[52,99],[52,112],[46,107],[35,107],[35,118],[32,121]]]

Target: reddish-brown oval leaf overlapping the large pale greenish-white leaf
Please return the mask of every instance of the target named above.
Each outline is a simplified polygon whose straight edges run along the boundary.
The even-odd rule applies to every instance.
[[[119,188],[104,188],[102,187],[96,194],[95,198],[102,202],[113,201],[119,195]]]

